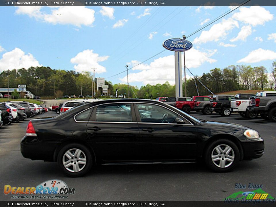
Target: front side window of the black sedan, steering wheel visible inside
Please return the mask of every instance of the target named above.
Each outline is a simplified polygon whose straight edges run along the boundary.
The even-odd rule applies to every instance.
[[[175,123],[178,115],[162,106],[152,104],[136,104],[141,122]]]

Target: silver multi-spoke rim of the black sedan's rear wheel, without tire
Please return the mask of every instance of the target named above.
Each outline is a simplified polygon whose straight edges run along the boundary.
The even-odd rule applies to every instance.
[[[85,153],[76,148],[66,151],[62,158],[64,168],[72,173],[78,173],[83,170],[86,162]]]

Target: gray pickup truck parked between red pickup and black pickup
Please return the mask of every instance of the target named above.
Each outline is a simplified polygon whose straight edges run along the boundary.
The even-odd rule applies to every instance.
[[[210,101],[213,99],[210,96],[193,96],[194,106],[193,110],[196,112],[202,112],[205,115],[212,114],[212,106]]]

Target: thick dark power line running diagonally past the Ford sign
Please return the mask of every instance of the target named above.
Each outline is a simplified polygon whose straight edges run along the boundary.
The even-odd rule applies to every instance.
[[[221,16],[215,18],[215,19],[212,20],[211,22],[207,23],[206,25],[202,26],[202,27],[199,28],[198,30],[196,30],[196,31],[192,32],[191,34],[189,34],[189,35],[187,36],[187,38],[188,38],[188,37],[191,37],[192,35],[196,34],[196,33],[199,32],[199,31],[203,30],[204,28],[206,28],[207,26],[213,24],[214,22],[220,20],[221,18],[223,18],[223,17],[225,17],[226,15],[230,14],[231,12],[235,11],[235,10],[238,9],[239,7],[245,5],[245,4],[248,3],[249,1],[251,1],[251,0],[244,0],[244,1],[242,1],[242,2],[240,3],[239,6],[237,6],[237,7],[234,8],[234,9],[229,9],[228,11],[226,11],[225,13],[223,13]],[[243,2],[244,2],[244,3],[243,3]],[[170,14],[169,14],[169,15],[170,15]],[[168,15],[168,16],[169,16],[169,15]],[[166,23],[167,23],[167,22],[166,22]],[[137,46],[138,46],[138,45],[137,45]],[[136,47],[137,47],[137,46],[136,46]],[[148,58],[147,60],[144,60],[143,62],[141,62],[141,63],[139,63],[139,64],[133,66],[132,68],[134,68],[134,67],[136,67],[136,66],[138,66],[138,65],[140,65],[140,64],[142,64],[142,63],[144,63],[144,62],[146,62],[146,61],[148,61],[148,60],[150,60],[150,59],[152,59],[153,57],[159,55],[160,53],[162,53],[162,52],[164,52],[164,51],[166,51],[166,49],[162,50],[161,52],[157,53],[156,55],[153,55],[152,57]],[[128,70],[130,70],[130,69],[132,69],[132,68],[129,68]],[[187,68],[187,67],[186,67],[186,68]],[[188,68],[187,68],[187,69],[188,69]],[[107,78],[111,78],[111,77],[117,76],[117,75],[122,74],[122,73],[124,73],[124,72],[126,72],[126,71],[127,71],[127,70],[124,70],[124,71],[122,71],[122,72],[120,72],[120,73],[117,73],[117,74],[112,75],[112,76],[107,77]]]

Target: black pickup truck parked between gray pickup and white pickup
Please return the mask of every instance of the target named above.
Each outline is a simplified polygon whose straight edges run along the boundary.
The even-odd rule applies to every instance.
[[[232,99],[236,99],[236,97],[233,95],[225,95],[225,94],[213,95],[213,100],[210,102],[212,106],[212,111],[215,111],[221,116],[230,116],[231,115],[230,101]]]

